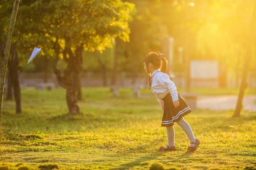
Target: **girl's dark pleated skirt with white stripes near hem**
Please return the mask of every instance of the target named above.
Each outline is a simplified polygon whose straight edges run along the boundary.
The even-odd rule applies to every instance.
[[[191,109],[186,104],[185,100],[178,93],[180,106],[175,108],[173,106],[173,99],[168,93],[162,100],[164,100],[164,115],[162,119],[162,126],[173,126],[174,122],[180,120],[181,117],[191,113]]]

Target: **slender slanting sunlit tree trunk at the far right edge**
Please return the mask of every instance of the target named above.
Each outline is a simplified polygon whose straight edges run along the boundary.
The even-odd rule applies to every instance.
[[[253,41],[255,40],[255,29],[256,29],[255,20],[256,20],[256,2],[254,2],[254,11],[252,13],[251,28],[250,28],[249,38],[248,38],[247,53],[246,53],[245,62],[244,62],[243,77],[242,77],[242,82],[241,82],[238,100],[237,100],[237,104],[236,104],[236,110],[234,112],[233,117],[240,116],[240,111],[242,109],[242,103],[243,103],[243,97],[245,95],[245,89],[248,86],[247,75],[248,75],[248,70],[249,70],[249,66],[250,66],[250,62],[251,62],[251,58],[252,58]]]

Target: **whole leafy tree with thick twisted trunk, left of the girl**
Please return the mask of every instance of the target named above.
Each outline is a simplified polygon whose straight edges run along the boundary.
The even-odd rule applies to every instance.
[[[80,110],[75,94],[79,87],[83,50],[103,51],[112,46],[117,36],[128,41],[129,13],[134,5],[120,0],[37,0],[23,3],[20,33],[26,33],[25,37],[30,40],[34,37],[34,44],[39,44],[42,49],[54,50],[54,74],[59,85],[66,89],[69,112],[77,114]],[[25,30],[22,29],[24,25]],[[57,68],[59,59],[67,63],[63,73]]]

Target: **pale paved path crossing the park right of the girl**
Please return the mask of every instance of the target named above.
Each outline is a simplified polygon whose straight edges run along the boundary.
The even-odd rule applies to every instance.
[[[200,95],[197,107],[209,110],[236,109],[238,95],[206,96]],[[256,112],[256,95],[245,95],[243,98],[243,110]]]

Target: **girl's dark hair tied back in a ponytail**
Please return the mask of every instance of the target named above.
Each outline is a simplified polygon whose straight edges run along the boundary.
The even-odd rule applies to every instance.
[[[160,71],[166,73],[168,61],[162,56],[164,55],[160,52],[149,52],[144,58],[144,63],[147,67],[148,63],[151,63],[155,67],[159,68]]]

